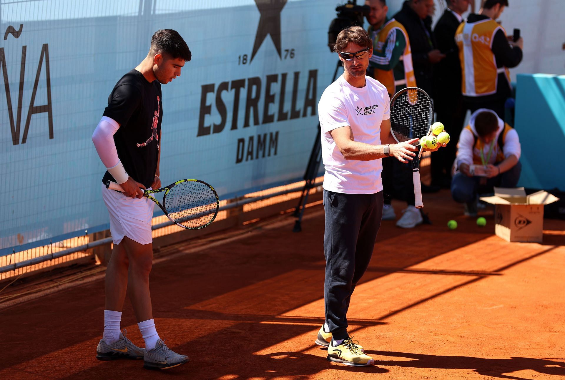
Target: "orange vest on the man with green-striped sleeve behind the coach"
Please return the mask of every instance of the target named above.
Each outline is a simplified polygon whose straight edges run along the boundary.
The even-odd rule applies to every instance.
[[[383,47],[386,47],[385,44],[389,34],[396,33],[396,29],[399,29],[406,39],[406,47],[400,57],[404,66],[404,76],[395,78],[394,69],[380,70],[375,68],[375,70],[373,70],[373,76],[376,80],[385,85],[389,94],[395,94],[397,86],[401,86],[402,88],[416,87],[416,78],[414,77],[414,68],[412,67],[410,40],[408,40],[408,33],[401,23],[395,19],[390,19],[388,23],[384,24],[380,31],[377,32],[379,38],[373,41],[373,50],[383,53]]]

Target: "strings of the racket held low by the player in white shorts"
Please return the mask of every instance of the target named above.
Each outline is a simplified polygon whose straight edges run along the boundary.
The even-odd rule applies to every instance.
[[[163,201],[169,217],[187,228],[207,226],[214,220],[218,210],[216,192],[197,181],[174,185]]]

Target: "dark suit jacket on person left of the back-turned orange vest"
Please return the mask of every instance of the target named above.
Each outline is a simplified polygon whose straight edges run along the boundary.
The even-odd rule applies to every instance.
[[[434,106],[438,111],[453,107],[462,98],[461,63],[459,62],[459,49],[455,43],[455,32],[459,24],[455,15],[446,9],[433,30],[437,48],[446,55],[444,59],[436,63],[433,71],[434,93],[436,94]]]

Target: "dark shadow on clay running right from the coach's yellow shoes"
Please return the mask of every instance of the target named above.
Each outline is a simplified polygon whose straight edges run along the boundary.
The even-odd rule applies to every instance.
[[[368,355],[393,356],[413,359],[409,361],[375,360],[376,365],[399,366],[405,368],[472,369],[474,372],[501,379],[527,380],[505,375],[520,370],[533,370],[537,373],[565,376],[564,359],[534,359],[531,357],[511,357],[510,359],[485,359],[472,356],[423,355],[418,353],[393,351],[366,351]]]

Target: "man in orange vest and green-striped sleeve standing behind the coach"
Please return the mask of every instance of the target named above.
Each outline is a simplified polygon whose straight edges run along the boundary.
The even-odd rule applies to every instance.
[[[412,54],[408,33],[401,23],[386,17],[386,0],[366,0],[365,5],[371,11],[367,15],[370,24],[368,33],[373,41],[373,55],[369,58],[372,77],[386,87],[389,97],[405,87],[416,87]],[[415,199],[412,188],[412,173],[404,170],[401,162],[393,159],[383,160],[383,192],[385,207],[383,220],[394,220],[396,214],[390,206],[390,198],[406,201],[408,208],[397,221],[397,226],[413,228],[423,222],[423,218],[414,207]]]

